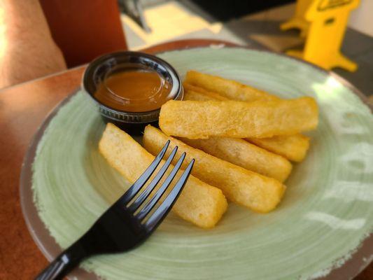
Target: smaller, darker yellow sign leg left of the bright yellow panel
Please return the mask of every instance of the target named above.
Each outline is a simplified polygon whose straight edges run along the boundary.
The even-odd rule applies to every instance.
[[[283,22],[283,24],[280,25],[281,30],[296,28],[300,29],[300,36],[302,38],[307,36],[309,22],[307,22],[304,15],[311,3],[312,0],[298,0],[297,6],[295,6],[295,14],[293,18],[290,18],[290,20],[288,20],[287,22]]]

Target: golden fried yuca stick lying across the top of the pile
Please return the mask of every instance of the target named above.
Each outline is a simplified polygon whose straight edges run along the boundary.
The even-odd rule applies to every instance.
[[[188,139],[265,138],[313,130],[318,108],[311,97],[276,101],[175,101],[160,110],[164,133]]]

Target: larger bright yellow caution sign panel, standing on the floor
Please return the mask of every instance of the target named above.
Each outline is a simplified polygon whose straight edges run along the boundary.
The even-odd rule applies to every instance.
[[[304,18],[309,23],[303,51],[289,50],[288,55],[300,57],[325,69],[342,67],[351,72],[355,62],[342,55],[340,48],[351,10],[360,0],[314,0]]]

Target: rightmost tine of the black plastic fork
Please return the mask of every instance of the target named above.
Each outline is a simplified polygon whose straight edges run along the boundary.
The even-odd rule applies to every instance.
[[[167,216],[167,213],[169,213],[172,206],[176,202],[178,196],[180,195],[181,190],[183,190],[183,187],[185,186],[185,183],[189,178],[190,172],[192,171],[194,163],[194,159],[189,162],[188,167],[185,169],[180,179],[178,179],[178,182],[171,190],[171,193],[167,195],[166,199],[162,202],[162,204],[160,204],[160,207],[158,207],[157,210],[155,210],[155,212],[153,213],[153,215],[150,216],[148,221],[146,221],[145,227],[147,230],[152,231]]]

